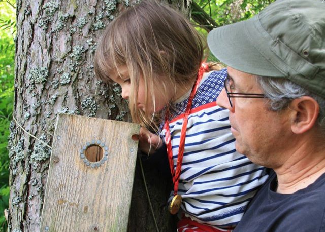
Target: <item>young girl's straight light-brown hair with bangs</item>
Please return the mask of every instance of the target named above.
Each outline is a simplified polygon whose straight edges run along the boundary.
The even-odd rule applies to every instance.
[[[145,0],[108,25],[95,54],[95,73],[110,82],[107,73],[126,65],[132,86],[131,117],[135,123],[156,130],[155,113],[137,107],[140,76],[146,89],[145,104],[155,108],[157,91],[176,95],[180,88],[193,85],[204,48],[201,35],[181,13]],[[170,99],[164,100],[168,105]]]

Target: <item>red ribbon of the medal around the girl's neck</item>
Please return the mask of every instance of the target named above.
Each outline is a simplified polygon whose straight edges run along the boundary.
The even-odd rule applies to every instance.
[[[184,118],[183,118],[183,125],[181,129],[181,137],[180,137],[180,142],[179,142],[179,147],[178,147],[178,154],[177,154],[177,163],[176,163],[176,171],[174,169],[174,162],[173,162],[173,151],[172,151],[172,144],[171,144],[171,133],[169,130],[169,112],[166,111],[165,115],[165,125],[164,128],[166,130],[166,135],[165,135],[165,143],[167,146],[167,153],[168,153],[168,160],[169,160],[169,166],[171,168],[171,173],[173,177],[173,183],[174,183],[174,195],[177,195],[178,192],[178,183],[179,183],[179,177],[181,173],[181,167],[182,167],[182,161],[183,161],[183,154],[184,154],[184,145],[185,145],[185,134],[186,134],[186,128],[187,128],[187,120],[188,120],[188,115],[191,111],[192,107],[192,102],[193,98],[199,88],[199,84],[202,80],[203,73],[208,69],[208,65],[206,63],[202,63],[201,67],[198,72],[197,80],[196,83],[194,84],[192,91],[189,95],[188,98],[188,103],[186,106],[186,111],[184,113]]]

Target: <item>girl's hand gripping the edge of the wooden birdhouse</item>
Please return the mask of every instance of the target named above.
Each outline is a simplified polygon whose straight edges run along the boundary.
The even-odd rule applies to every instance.
[[[141,127],[139,134],[139,148],[145,154],[153,154],[163,145],[163,140],[156,134]]]

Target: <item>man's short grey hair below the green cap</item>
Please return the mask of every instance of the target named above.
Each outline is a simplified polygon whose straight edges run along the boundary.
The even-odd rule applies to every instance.
[[[325,99],[311,93],[303,87],[283,78],[270,78],[266,76],[257,76],[256,81],[261,86],[265,96],[269,100],[269,109],[280,111],[286,108],[289,103],[302,96],[314,98],[320,108],[318,115],[318,124],[322,133],[325,135]]]

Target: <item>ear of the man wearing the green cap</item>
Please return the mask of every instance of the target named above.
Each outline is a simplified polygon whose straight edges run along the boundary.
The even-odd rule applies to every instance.
[[[291,111],[291,130],[295,134],[302,134],[310,130],[316,123],[319,115],[319,105],[315,99],[309,96],[302,96],[294,99],[289,108]]]

